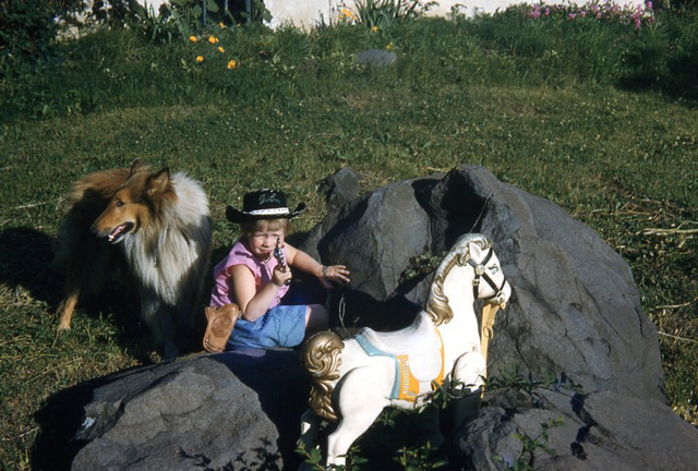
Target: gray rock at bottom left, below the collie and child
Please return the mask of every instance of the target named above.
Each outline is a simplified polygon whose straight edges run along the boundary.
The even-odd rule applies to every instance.
[[[84,407],[72,470],[281,469],[308,384],[298,352],[201,354],[117,374]]]

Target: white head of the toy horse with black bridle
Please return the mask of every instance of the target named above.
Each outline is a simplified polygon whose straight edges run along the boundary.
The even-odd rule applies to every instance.
[[[477,235],[469,241],[468,253],[468,265],[474,270],[473,297],[504,309],[512,295],[512,287],[504,276],[500,258],[492,249],[492,242],[484,235]]]

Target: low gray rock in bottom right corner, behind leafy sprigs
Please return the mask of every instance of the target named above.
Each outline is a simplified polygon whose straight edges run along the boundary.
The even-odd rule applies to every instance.
[[[696,469],[698,432],[660,401],[615,391],[579,401],[538,392],[544,400],[537,408],[483,408],[456,434],[452,460],[466,469],[493,471],[517,461],[541,471]],[[533,447],[529,454],[525,439],[547,450]]]

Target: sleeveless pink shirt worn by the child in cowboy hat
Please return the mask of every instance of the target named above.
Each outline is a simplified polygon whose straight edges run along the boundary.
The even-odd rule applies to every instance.
[[[284,256],[286,256],[286,249],[284,247],[281,250],[284,251]],[[274,267],[278,265],[278,262],[273,256],[264,262],[260,261],[250,252],[248,244],[242,239],[238,239],[232,249],[230,249],[228,256],[214,267],[214,289],[210,293],[209,305],[220,306],[236,302],[232,292],[232,278],[228,275],[228,268],[234,265],[244,265],[252,271],[252,275],[254,275],[255,292],[260,292],[262,288],[272,281],[272,274],[274,273]],[[286,285],[279,288],[269,309],[277,305],[287,291],[288,286]]]

